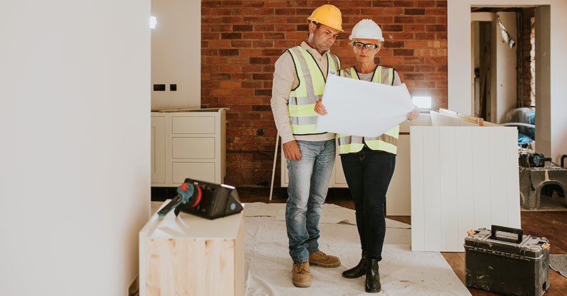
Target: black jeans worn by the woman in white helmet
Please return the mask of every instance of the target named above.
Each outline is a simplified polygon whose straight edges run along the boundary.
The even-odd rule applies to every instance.
[[[386,236],[384,201],[395,167],[395,154],[372,150],[341,154],[342,171],[357,211],[361,249],[366,258],[382,260]]]

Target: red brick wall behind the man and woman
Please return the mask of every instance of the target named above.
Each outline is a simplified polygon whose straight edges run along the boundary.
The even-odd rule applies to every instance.
[[[345,33],[331,51],[343,67],[355,63],[350,31],[371,18],[386,39],[376,63],[395,67],[412,95],[432,96],[434,109],[447,108],[447,1],[201,3],[201,107],[230,108],[225,183],[269,186],[277,135],[270,108],[274,62],[306,39],[307,17],[322,4],[342,11]]]

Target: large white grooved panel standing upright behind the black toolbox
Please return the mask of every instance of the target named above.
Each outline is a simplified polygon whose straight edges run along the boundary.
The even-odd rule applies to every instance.
[[[464,251],[468,229],[520,227],[507,127],[411,127],[412,251]]]

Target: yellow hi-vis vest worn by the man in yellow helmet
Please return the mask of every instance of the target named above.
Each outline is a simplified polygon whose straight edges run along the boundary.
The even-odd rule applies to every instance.
[[[316,135],[324,134],[315,130],[317,113],[315,113],[315,102],[323,96],[325,89],[325,76],[319,68],[315,58],[301,46],[292,47],[288,50],[296,65],[299,85],[292,89],[288,99],[288,114],[293,135]],[[327,52],[327,73],[330,69],[339,71],[341,62],[339,57]]]

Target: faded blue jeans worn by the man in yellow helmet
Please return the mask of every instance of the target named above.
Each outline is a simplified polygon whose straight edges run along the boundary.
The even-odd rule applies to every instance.
[[[335,163],[334,139],[297,144],[301,159],[287,159],[286,227],[293,263],[308,261],[310,253],[319,251],[319,218]]]

